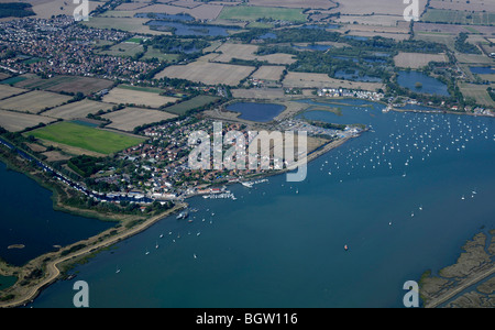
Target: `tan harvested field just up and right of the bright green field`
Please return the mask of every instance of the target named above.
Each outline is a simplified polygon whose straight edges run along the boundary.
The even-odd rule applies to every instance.
[[[160,122],[162,120],[175,118],[177,116],[161,110],[124,108],[119,111],[103,114],[102,117],[112,121],[112,123],[107,125],[107,128],[132,132],[136,127]]]

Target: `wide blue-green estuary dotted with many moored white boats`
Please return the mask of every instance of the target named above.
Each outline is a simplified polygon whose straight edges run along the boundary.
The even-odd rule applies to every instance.
[[[339,103],[340,117],[305,116],[373,130],[311,162],[306,180],[190,199],[193,222],[162,220],[33,306],[72,307],[82,279],[91,307],[402,307],[406,280],[495,226],[494,120]]]

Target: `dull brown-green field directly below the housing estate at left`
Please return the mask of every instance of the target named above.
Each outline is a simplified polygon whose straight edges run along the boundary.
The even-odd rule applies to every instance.
[[[78,76],[55,76],[48,79],[41,79],[36,76],[24,79],[15,87],[29,89],[43,89],[50,91],[65,91],[65,92],[82,92],[89,95],[102,89],[109,88],[113,85],[112,81],[91,77]]]

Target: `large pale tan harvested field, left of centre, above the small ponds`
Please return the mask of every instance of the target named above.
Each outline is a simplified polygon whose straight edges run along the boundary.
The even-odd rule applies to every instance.
[[[242,79],[251,75],[253,66],[230,65],[208,62],[193,62],[188,65],[174,65],[165,68],[155,76],[187,79],[206,85],[226,84],[238,85]]]

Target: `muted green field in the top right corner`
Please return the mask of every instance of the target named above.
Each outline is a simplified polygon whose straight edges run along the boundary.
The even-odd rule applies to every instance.
[[[428,11],[421,16],[421,21],[430,23],[490,25],[495,23],[495,13],[428,9]]]

